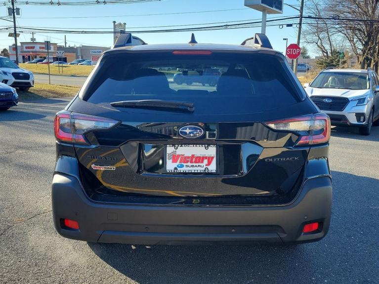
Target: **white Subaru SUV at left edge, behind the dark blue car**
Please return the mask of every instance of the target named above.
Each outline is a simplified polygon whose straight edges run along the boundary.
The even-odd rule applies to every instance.
[[[9,58],[0,56],[0,82],[27,91],[34,86],[32,72],[18,67]]]

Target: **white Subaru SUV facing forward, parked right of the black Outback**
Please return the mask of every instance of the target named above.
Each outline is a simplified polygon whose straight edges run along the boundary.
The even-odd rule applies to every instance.
[[[379,79],[370,68],[327,69],[304,87],[333,125],[358,126],[362,135],[379,125]]]

